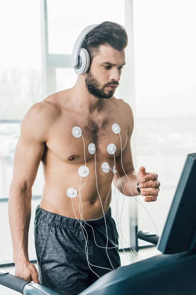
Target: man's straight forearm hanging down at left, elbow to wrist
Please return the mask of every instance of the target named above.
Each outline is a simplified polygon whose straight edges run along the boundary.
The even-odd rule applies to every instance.
[[[28,262],[28,231],[32,192],[11,185],[8,201],[9,224],[15,265]]]

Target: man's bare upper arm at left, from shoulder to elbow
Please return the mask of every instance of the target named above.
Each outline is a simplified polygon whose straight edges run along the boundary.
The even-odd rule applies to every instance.
[[[41,103],[34,104],[21,124],[21,134],[15,148],[12,184],[31,189],[45,150],[46,111]]]

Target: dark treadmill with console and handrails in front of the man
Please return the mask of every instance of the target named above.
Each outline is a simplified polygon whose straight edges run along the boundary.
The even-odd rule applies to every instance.
[[[196,153],[188,154],[162,236],[138,238],[162,253],[100,277],[78,295],[196,295]],[[0,269],[0,284],[24,295],[59,295]]]

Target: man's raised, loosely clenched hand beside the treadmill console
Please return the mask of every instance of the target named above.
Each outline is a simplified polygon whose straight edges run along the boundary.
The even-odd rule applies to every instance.
[[[157,179],[158,175],[156,173],[146,172],[145,167],[140,167],[140,171],[137,175],[137,180],[139,182],[139,188],[142,196],[147,196],[144,200],[146,202],[154,202],[157,199],[158,193],[160,191],[160,182]]]

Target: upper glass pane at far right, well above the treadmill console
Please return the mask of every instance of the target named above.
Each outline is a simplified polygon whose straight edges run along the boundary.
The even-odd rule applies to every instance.
[[[194,0],[134,1],[138,116],[196,116],[195,11]]]

